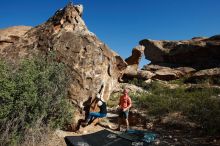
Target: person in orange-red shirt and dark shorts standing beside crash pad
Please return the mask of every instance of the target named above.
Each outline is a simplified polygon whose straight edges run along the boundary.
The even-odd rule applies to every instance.
[[[123,90],[123,95],[119,99],[118,108],[118,128],[116,130],[120,131],[122,120],[126,122],[126,128],[129,130],[129,121],[128,121],[128,114],[129,109],[132,106],[131,98],[128,96],[128,89]]]

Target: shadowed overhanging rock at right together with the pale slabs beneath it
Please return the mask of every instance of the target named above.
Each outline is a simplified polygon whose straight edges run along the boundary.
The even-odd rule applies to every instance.
[[[152,78],[161,80],[201,77],[200,70],[203,70],[202,73],[208,72],[209,76],[216,76],[209,69],[220,67],[219,36],[195,37],[185,41],[142,40],[139,44],[145,47],[145,58],[151,61],[143,70],[151,71],[155,74]]]

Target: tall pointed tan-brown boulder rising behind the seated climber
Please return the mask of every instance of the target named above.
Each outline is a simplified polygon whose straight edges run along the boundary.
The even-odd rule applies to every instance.
[[[47,22],[28,30],[16,43],[1,49],[1,57],[11,61],[54,52],[57,61],[64,62],[71,70],[69,93],[79,107],[98,92],[108,100],[127,66],[87,29],[82,11],[81,5],[70,3]]]

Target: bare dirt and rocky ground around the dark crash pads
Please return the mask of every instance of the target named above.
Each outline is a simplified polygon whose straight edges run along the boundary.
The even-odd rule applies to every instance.
[[[67,132],[57,130],[53,136],[53,146],[66,146],[64,141],[65,136],[79,136],[94,133],[102,129],[114,131],[117,127],[117,116],[110,114],[108,118],[102,119],[100,124],[92,123],[89,126],[81,127],[76,132]],[[130,114],[131,129],[147,130],[157,134],[157,139],[150,145],[159,146],[218,146],[220,145],[220,136],[206,136],[201,129],[196,127],[191,122],[184,121],[184,118],[173,113],[166,117],[156,119],[142,117],[140,113]],[[174,120],[174,118],[176,120]],[[134,122],[136,121],[136,122]],[[184,122],[183,122],[184,121]],[[183,124],[184,123],[184,124]],[[125,127],[122,127],[122,131]],[[56,144],[55,144],[56,143]]]

